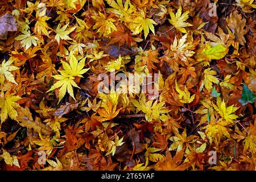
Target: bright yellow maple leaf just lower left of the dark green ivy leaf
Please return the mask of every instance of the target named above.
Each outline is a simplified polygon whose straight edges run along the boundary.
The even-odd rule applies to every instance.
[[[232,114],[232,113],[234,113],[234,111],[236,111],[239,107],[234,107],[234,105],[226,107],[225,101],[222,100],[221,102],[220,97],[217,98],[217,106],[213,104],[213,107],[215,110],[218,111],[218,114],[220,114],[221,117],[225,119],[225,122],[223,123],[224,126],[233,124],[234,119],[238,117],[236,114]]]

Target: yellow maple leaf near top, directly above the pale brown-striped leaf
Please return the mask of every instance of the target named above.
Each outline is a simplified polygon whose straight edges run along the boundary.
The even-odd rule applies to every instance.
[[[190,23],[186,23],[185,20],[187,20],[189,11],[186,11],[185,13],[183,13],[181,15],[181,6],[179,7],[179,9],[177,10],[177,13],[174,14],[172,11],[169,11],[171,19],[168,19],[169,22],[179,31],[183,32],[183,33],[187,33],[187,31],[185,30],[185,28],[183,27],[189,27],[189,26],[193,26]]]

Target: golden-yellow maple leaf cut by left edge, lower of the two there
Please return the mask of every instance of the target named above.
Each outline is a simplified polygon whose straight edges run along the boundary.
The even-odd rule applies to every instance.
[[[14,93],[5,97],[0,97],[1,123],[7,119],[8,115],[11,119],[16,119],[18,113],[15,109],[19,107],[19,104],[17,104],[16,101],[20,100],[20,98],[21,97],[19,96],[14,96]]]

